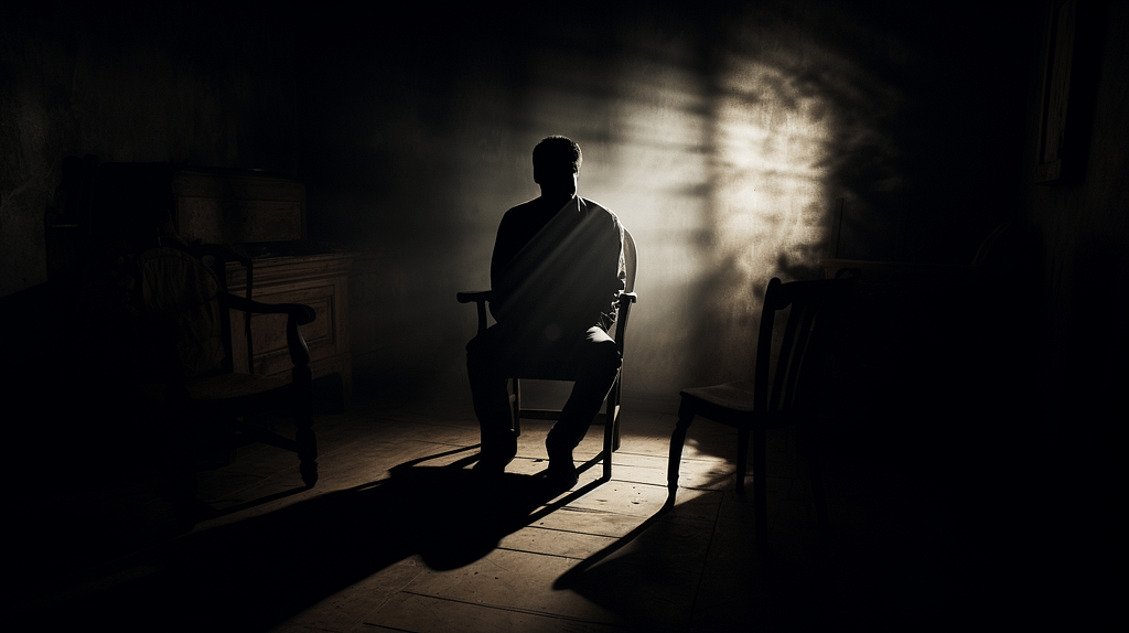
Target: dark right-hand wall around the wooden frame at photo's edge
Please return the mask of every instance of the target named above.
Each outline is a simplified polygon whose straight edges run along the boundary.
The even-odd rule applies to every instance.
[[[1050,15],[1050,2],[1040,7]],[[1082,561],[1115,559],[1122,548],[1121,512],[1111,500],[1123,495],[1124,424],[1120,410],[1129,380],[1129,6],[1078,2],[1078,33],[1071,72],[1066,138],[1080,151],[1064,157],[1079,167],[1073,181],[1035,185],[1039,93],[1032,90],[1024,156],[1023,219],[1042,253],[1030,275],[1038,280],[1038,333],[1018,363],[1030,363],[1026,385],[1006,417],[1023,432],[998,455],[1027,460],[1032,520],[1062,543],[1045,565],[1054,570],[1047,587],[1068,605],[1074,628],[1100,627],[1113,589],[1086,572]],[[1035,55],[1042,56],[1044,42]],[[1042,65],[1034,79],[1042,79]],[[1038,83],[1035,83],[1038,86]],[[1018,364],[1017,363],[1017,364]],[[998,424],[999,422],[997,422]],[[1023,443],[1025,436],[1041,442]],[[1016,441],[1019,440],[1019,441]],[[1014,471],[1019,471],[1014,468]],[[1022,489],[1021,489],[1022,490]],[[1023,495],[1021,494],[1022,499]],[[1045,512],[1048,500],[1053,512]],[[1025,529],[1031,528],[1025,526]],[[1077,543],[1077,547],[1065,546]],[[1040,565],[1043,565],[1040,562]]]

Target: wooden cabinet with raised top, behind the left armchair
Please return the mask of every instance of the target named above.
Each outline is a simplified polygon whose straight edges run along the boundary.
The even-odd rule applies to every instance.
[[[159,236],[235,247],[248,266],[227,264],[228,291],[264,304],[305,304],[317,318],[303,326],[314,378],[340,375],[344,403],[352,389],[349,349],[349,274],[356,253],[312,243],[306,234],[306,187],[255,169],[108,162],[97,167],[90,232],[138,248]],[[231,311],[236,371],[290,380],[286,316]]]

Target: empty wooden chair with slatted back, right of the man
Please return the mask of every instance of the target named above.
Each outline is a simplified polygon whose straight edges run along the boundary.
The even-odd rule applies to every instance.
[[[686,431],[695,416],[737,429],[737,493],[744,494],[749,436],[753,436],[753,504],[758,545],[768,544],[765,499],[765,431],[813,420],[817,388],[831,343],[835,311],[855,284],[854,278],[781,283],[772,279],[764,293],[752,383],[736,381],[681,392],[679,422],[671,437],[667,507],[674,504],[679,465]],[[790,308],[782,336],[773,337],[777,313]],[[772,361],[776,360],[776,367]],[[813,459],[813,487],[820,520],[826,522],[822,480]]]

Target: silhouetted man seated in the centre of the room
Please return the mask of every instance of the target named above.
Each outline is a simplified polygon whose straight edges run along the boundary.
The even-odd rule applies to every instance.
[[[545,439],[546,475],[576,482],[572,449],[615,380],[620,353],[607,335],[624,288],[623,227],[577,195],[580,146],[549,137],[533,150],[541,196],[502,217],[490,264],[497,324],[466,345],[482,449],[475,471],[502,473],[517,452],[509,377],[575,379]]]

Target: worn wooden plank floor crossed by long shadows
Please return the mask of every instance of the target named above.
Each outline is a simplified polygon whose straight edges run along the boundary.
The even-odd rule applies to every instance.
[[[934,630],[965,613],[920,491],[850,459],[826,464],[817,527],[795,433],[770,436],[769,552],[735,493],[735,436],[690,430],[664,512],[668,404],[624,411],[613,478],[568,492],[532,477],[548,427],[527,422],[490,485],[469,469],[478,427],[465,394],[358,394],[320,415],[321,481],[292,454],[240,449],[200,474],[211,518],[178,533],[161,480],[69,482],[29,501],[32,563],[15,630],[499,632]],[[650,408],[653,411],[647,411]],[[665,412],[663,410],[666,410]],[[658,410],[655,412],[654,410]],[[576,451],[596,456],[601,429]],[[751,480],[751,477],[750,477]],[[750,491],[752,487],[750,486]],[[928,502],[926,502],[928,504]],[[936,520],[952,520],[934,517]],[[928,535],[928,536],[924,536]],[[975,584],[975,583],[973,583]],[[11,613],[11,612],[10,612]]]

